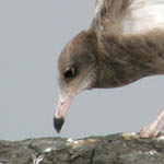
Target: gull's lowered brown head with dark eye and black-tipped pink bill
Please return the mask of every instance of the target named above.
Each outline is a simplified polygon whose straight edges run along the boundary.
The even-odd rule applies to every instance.
[[[54,126],[60,132],[73,97],[96,83],[96,59],[92,37],[81,32],[63,48],[59,56],[57,78],[60,86]]]

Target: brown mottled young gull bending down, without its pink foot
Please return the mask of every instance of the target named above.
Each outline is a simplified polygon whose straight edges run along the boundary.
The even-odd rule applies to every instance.
[[[91,27],[72,38],[59,57],[57,131],[71,101],[83,90],[164,74],[163,17],[164,0],[96,1]]]

